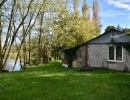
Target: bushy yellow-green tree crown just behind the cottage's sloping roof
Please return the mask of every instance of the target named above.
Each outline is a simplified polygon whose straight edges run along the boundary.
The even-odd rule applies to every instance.
[[[62,41],[66,48],[79,45],[99,35],[99,29],[94,21],[75,15],[65,17],[56,22],[54,35],[57,42]]]

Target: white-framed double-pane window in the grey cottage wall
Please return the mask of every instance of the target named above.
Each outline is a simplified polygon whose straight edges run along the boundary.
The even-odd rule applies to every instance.
[[[122,46],[109,46],[109,61],[123,61]]]

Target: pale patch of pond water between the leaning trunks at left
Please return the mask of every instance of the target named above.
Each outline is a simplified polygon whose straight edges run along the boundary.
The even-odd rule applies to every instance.
[[[9,59],[6,63],[6,70],[12,71],[14,63],[15,63],[15,60]],[[17,61],[14,71],[18,71],[20,69],[21,69],[20,62]]]

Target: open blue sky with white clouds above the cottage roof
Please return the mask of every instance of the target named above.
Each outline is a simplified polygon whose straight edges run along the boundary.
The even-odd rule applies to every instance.
[[[86,0],[92,7],[93,0]],[[102,33],[107,26],[130,28],[130,0],[98,0]],[[91,11],[92,15],[92,11]]]

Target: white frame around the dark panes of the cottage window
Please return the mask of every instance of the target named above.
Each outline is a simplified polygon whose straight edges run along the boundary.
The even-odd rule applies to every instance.
[[[117,59],[116,59],[116,47],[117,47],[117,46],[119,46],[119,45],[109,45],[109,46],[108,46],[108,54],[107,54],[107,55],[108,55],[108,61],[110,61],[110,62],[123,62],[123,56],[124,56],[124,55],[123,55],[123,46],[121,46],[121,47],[122,47],[122,60],[117,60]],[[109,59],[109,58],[110,58],[110,57],[109,57],[109,47],[114,47],[114,60],[110,60],[110,59]]]

